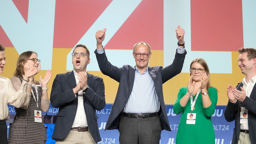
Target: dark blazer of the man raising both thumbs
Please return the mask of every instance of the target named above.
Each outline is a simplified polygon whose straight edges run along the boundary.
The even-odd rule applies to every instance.
[[[129,65],[124,65],[121,68],[113,66],[108,61],[105,50],[103,54],[98,54],[96,50],[94,53],[96,54],[101,72],[119,82],[115,102],[112,106],[105,130],[119,129],[121,113],[132,92],[135,77],[135,67]],[[171,128],[166,113],[166,105],[164,103],[163,83],[181,72],[185,55],[186,51],[183,54],[179,54],[176,51],[175,58],[171,65],[165,68],[162,66],[148,67],[148,72],[153,79],[155,90],[160,102],[160,120],[162,129],[168,131],[171,131]]]

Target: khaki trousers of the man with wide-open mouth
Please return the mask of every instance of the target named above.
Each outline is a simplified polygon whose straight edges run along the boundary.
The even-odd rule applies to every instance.
[[[63,140],[56,140],[56,144],[96,144],[90,132],[70,130]]]

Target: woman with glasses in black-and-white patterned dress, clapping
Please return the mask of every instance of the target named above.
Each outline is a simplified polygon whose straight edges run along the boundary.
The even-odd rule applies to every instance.
[[[33,51],[23,52],[17,60],[14,77],[11,78],[16,90],[21,86],[24,79],[24,71],[27,71],[27,65],[32,67],[41,67],[37,53]],[[39,73],[40,68],[38,69]],[[15,108],[16,115],[11,125],[9,134],[9,144],[23,143],[45,143],[47,140],[46,128],[44,127],[42,111],[49,109],[48,87],[47,84],[51,78],[50,70],[46,71],[45,77],[40,82],[36,81],[34,76],[28,79],[28,94],[31,95],[29,104],[22,108]]]

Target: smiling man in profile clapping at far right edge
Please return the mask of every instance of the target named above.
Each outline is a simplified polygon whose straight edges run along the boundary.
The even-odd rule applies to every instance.
[[[256,143],[256,49],[240,48],[238,66],[245,75],[232,89],[227,87],[228,104],[224,111],[228,122],[235,120],[232,144]]]

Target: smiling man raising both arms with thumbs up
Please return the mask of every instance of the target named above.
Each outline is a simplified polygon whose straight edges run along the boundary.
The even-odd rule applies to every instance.
[[[178,48],[173,63],[165,68],[148,66],[152,53],[146,42],[138,42],[133,47],[135,67],[111,65],[102,46],[105,32],[105,28],[96,32],[97,49],[94,53],[101,72],[119,82],[105,130],[118,129],[120,144],[159,143],[161,131],[171,131],[165,109],[163,83],[182,70],[186,55],[183,41],[185,31],[177,27]]]

